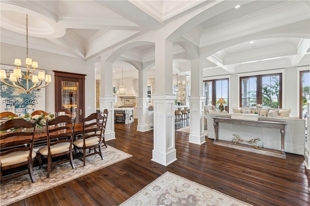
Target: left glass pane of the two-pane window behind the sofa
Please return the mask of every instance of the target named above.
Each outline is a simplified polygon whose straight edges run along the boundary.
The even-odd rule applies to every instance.
[[[242,78],[241,80],[242,107],[251,107],[257,103],[257,77]]]

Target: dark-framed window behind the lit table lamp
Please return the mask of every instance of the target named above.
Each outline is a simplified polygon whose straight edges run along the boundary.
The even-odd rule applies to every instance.
[[[215,79],[204,81],[204,95],[205,101],[204,104],[212,104],[217,108],[220,103],[217,101],[220,98],[225,100],[223,103],[224,106],[228,105],[228,79]]]

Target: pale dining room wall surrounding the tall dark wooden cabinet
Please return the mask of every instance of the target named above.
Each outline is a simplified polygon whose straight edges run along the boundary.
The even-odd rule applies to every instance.
[[[25,63],[23,63],[26,59],[25,47],[4,43],[1,43],[0,46],[0,64],[14,66],[14,59],[17,58],[22,59],[22,67],[26,66]],[[55,112],[55,79],[53,70],[86,74],[85,116],[95,112],[95,71],[93,63],[31,48],[29,48],[28,56],[38,62],[38,69],[46,70],[46,73],[52,76],[52,83],[46,88],[47,112]]]

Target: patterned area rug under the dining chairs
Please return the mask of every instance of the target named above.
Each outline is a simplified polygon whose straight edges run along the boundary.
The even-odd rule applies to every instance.
[[[1,182],[0,205],[6,206],[15,203],[31,195],[51,189],[65,182],[69,182],[70,180],[82,177],[103,167],[132,157],[132,155],[114,147],[108,146],[107,148],[102,148],[104,155],[103,160],[101,160],[99,155],[92,155],[86,158],[86,165],[83,166],[82,161],[75,159],[75,169],[72,169],[69,162],[60,164],[52,168],[50,178],[47,178],[47,171],[45,169],[35,167],[34,183],[31,183],[29,175]]]

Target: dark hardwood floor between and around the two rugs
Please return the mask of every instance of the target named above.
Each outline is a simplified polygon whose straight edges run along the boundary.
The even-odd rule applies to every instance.
[[[16,206],[116,206],[166,171],[221,191],[255,206],[309,206],[309,177],[304,157],[287,159],[206,143],[188,143],[188,134],[175,132],[177,161],[163,166],[151,161],[153,131],[137,132],[137,120],[115,124],[116,139],[107,142],[133,157],[43,191]]]

